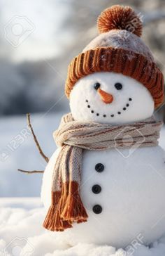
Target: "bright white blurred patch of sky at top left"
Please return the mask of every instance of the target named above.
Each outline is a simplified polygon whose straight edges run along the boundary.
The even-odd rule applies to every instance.
[[[62,30],[70,3],[62,0],[0,0],[3,10],[0,57],[22,61],[60,55],[65,39],[67,44],[71,39],[71,32]]]

